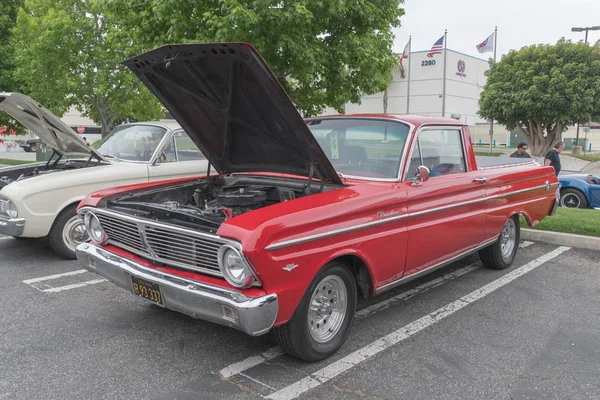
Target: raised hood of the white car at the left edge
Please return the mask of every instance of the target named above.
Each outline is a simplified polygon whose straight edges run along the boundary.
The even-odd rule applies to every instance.
[[[94,154],[99,159],[106,161],[60,118],[24,94],[0,93],[0,110],[33,131],[41,141],[63,156],[89,157]]]

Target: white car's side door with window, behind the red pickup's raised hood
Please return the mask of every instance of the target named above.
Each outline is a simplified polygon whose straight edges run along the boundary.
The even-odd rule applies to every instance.
[[[185,131],[177,130],[157,149],[155,161],[148,165],[148,177],[150,181],[160,181],[202,176],[207,168],[202,152]]]

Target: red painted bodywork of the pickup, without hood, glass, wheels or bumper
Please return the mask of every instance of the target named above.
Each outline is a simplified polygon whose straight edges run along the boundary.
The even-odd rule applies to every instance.
[[[324,118],[336,117],[340,116]],[[462,130],[467,171],[431,179],[421,186],[412,186],[412,181],[348,179],[344,182],[347,186],[340,189],[263,207],[223,223],[217,235],[242,244],[244,255],[262,283],[261,288],[239,291],[250,297],[278,295],[275,326],[291,318],[314,276],[331,260],[349,257],[355,265],[364,265],[371,279],[369,294],[374,295],[401,278],[489,243],[515,214],[523,214],[530,225],[536,225],[554,204],[557,179],[553,168],[536,167],[532,173],[529,164],[479,170],[468,127],[457,121],[404,115],[344,117],[407,122],[415,128],[409,135],[411,142],[423,126],[451,124]],[[487,182],[482,184],[476,178],[486,178]],[[87,196],[79,208],[101,206],[103,199],[120,193],[192,180],[107,189]],[[315,235],[318,239],[309,240]],[[277,247],[282,242],[292,244]],[[159,269],[122,249],[106,248]],[[292,264],[296,265],[292,270],[284,269]],[[232,288],[224,279],[160,268],[173,275]]]

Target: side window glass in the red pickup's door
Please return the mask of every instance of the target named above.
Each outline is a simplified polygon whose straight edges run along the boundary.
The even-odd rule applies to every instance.
[[[413,179],[420,165],[429,168],[432,178],[466,172],[461,131],[431,129],[420,132],[411,154],[406,179]]]

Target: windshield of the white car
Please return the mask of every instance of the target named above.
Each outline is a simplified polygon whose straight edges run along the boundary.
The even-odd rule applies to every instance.
[[[98,152],[108,158],[148,162],[167,130],[151,125],[121,125],[106,136]]]

